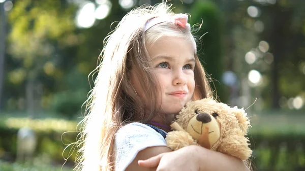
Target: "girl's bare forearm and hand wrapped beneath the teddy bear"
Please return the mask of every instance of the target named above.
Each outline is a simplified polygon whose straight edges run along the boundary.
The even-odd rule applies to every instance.
[[[177,151],[159,154],[139,165],[157,170],[250,170],[238,158],[202,148],[187,146]]]

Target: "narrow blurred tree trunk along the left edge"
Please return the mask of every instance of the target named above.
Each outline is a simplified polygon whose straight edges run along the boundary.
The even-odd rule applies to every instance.
[[[5,43],[6,43],[6,12],[4,10],[4,3],[0,3],[1,16],[1,33],[0,33],[0,110],[3,109],[3,92],[4,92],[4,66],[5,66]]]

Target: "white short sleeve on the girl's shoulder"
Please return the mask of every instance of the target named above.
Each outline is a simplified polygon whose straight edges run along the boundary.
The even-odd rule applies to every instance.
[[[124,171],[139,151],[147,147],[166,146],[166,142],[164,137],[155,129],[134,122],[121,127],[116,132],[114,146],[115,170]]]

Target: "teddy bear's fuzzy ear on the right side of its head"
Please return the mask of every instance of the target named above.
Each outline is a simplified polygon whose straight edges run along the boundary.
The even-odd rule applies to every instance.
[[[242,132],[246,135],[248,132],[248,128],[250,125],[250,120],[247,117],[247,113],[243,109],[238,109],[237,107],[232,108],[232,111],[238,120],[239,128],[242,130]]]

